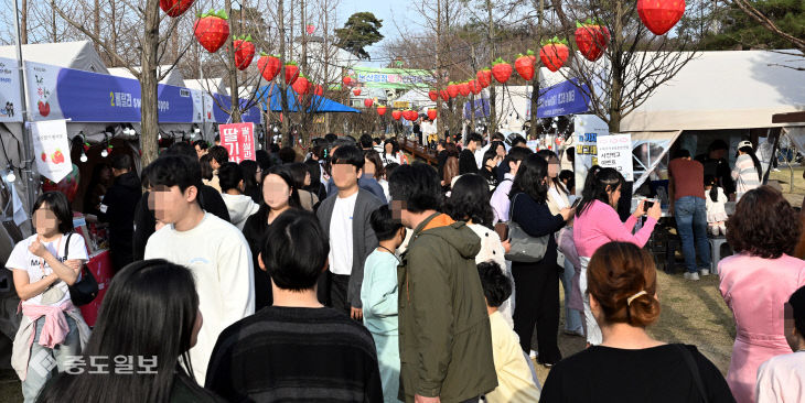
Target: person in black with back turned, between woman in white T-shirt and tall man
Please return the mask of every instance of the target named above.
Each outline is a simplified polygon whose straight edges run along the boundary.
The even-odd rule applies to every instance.
[[[111,173],[115,182],[106,192],[98,211],[98,219],[109,222],[109,258],[115,272],[135,261],[131,239],[135,233],[135,209],[142,194],[142,186],[131,166],[131,156],[128,154],[112,157]]]

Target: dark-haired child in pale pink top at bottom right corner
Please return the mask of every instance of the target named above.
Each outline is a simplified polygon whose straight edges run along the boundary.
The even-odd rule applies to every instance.
[[[785,340],[793,353],[771,358],[758,370],[758,403],[805,401],[805,286],[784,305]]]

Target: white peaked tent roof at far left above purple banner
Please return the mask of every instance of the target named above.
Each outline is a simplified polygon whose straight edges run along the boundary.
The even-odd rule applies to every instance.
[[[17,58],[17,46],[0,46],[0,57]],[[78,70],[109,74],[98,52],[89,41],[37,43],[22,45],[22,59],[75,68]]]

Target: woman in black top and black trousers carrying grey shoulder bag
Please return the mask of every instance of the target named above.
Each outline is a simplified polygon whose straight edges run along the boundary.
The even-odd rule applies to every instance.
[[[512,263],[514,277],[514,331],[519,336],[525,352],[532,349],[532,335],[537,326],[539,363],[550,367],[561,359],[557,345],[559,331],[559,268],[556,264],[554,233],[572,217],[565,208],[551,215],[546,204],[548,194],[548,163],[532,154],[520,164],[512,184],[512,221],[532,237],[548,237],[543,260],[535,263]]]

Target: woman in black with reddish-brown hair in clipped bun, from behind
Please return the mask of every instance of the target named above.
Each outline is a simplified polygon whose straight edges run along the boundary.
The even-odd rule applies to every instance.
[[[540,402],[734,402],[721,372],[695,346],[655,340],[659,318],[651,253],[610,242],[590,259],[590,306],[603,342],[557,363]]]

